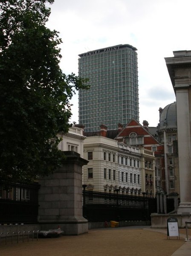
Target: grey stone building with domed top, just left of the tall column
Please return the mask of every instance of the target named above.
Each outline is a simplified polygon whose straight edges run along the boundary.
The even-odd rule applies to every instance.
[[[157,155],[156,174],[160,177],[159,186],[168,194],[179,194],[177,103],[171,103],[164,109],[159,108],[159,113],[157,133],[159,142],[164,145],[164,151]]]

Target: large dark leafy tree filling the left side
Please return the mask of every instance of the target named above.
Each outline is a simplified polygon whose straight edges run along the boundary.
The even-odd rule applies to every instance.
[[[58,32],[46,3],[0,1],[0,179],[34,180],[58,167],[58,133],[69,129],[69,100],[87,80],[59,67]]]

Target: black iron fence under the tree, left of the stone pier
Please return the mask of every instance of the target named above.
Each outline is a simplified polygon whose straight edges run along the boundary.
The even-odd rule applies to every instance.
[[[37,223],[38,183],[0,181],[0,224]]]

